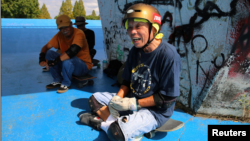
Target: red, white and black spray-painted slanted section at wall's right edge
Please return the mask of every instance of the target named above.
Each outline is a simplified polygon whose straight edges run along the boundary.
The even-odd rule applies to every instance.
[[[234,43],[231,46],[230,54],[221,67],[222,71],[218,73],[217,79],[213,82],[210,96],[202,104],[202,108],[212,105],[215,101],[212,97],[221,93],[221,99],[218,100],[219,102],[217,101],[217,108],[232,109],[232,114],[240,111],[237,116],[242,116],[240,100],[250,100],[249,29],[250,15],[239,20],[229,32],[230,37],[235,38]],[[227,40],[230,40],[230,38]]]

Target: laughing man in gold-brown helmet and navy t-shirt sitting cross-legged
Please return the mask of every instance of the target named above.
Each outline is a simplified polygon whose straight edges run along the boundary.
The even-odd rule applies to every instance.
[[[94,93],[89,98],[92,113],[79,116],[82,123],[104,130],[112,141],[138,140],[162,126],[180,95],[180,56],[174,46],[162,41],[158,10],[135,4],[128,8],[123,22],[134,44],[123,84],[118,93]]]

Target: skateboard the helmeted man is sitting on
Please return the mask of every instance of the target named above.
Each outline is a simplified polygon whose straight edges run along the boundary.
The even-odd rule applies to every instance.
[[[169,119],[166,123],[164,123],[161,127],[149,132],[145,133],[144,136],[148,139],[153,138],[156,132],[170,132],[180,129],[184,126],[184,123],[178,120]]]

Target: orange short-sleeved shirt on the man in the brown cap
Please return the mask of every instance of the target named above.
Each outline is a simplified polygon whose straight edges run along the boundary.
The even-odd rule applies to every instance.
[[[93,67],[89,54],[89,46],[82,30],[74,28],[74,33],[70,39],[67,39],[60,31],[49,41],[55,49],[60,48],[64,53],[72,44],[77,44],[82,49],[77,53],[77,57],[84,61],[90,70]]]

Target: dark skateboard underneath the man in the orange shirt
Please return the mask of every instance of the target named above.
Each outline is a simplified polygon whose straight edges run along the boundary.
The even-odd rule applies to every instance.
[[[74,76],[73,75],[72,78],[78,80],[79,82],[77,83],[77,87],[82,88],[85,85],[94,85],[94,81],[91,80],[91,79],[94,79],[96,77],[94,77],[94,76],[92,76],[90,74],[87,74],[87,75],[84,75],[84,76]],[[88,80],[88,81],[86,82],[86,80]],[[85,82],[83,82],[83,81],[85,81]]]

